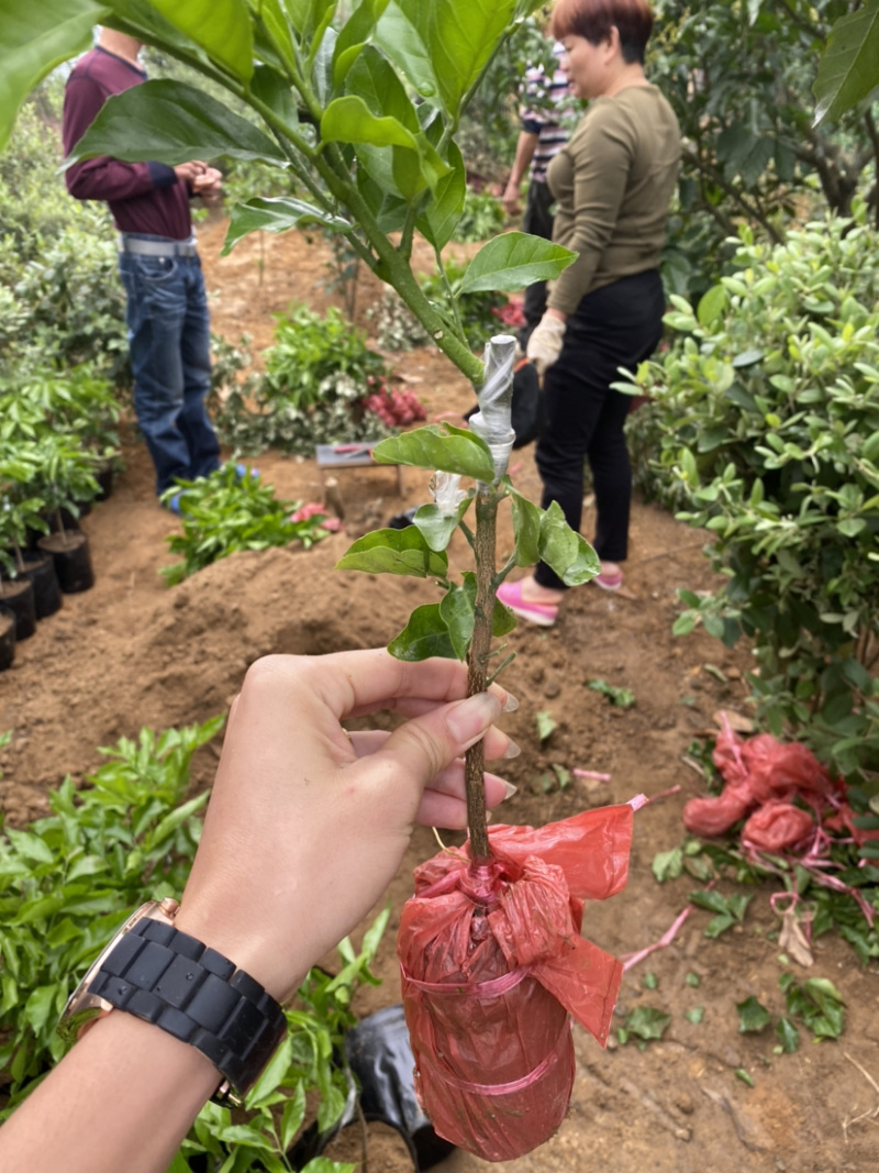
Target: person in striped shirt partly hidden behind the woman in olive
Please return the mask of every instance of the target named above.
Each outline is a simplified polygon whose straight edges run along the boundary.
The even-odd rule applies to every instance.
[[[552,49],[557,63],[564,52],[564,46],[557,41]],[[557,68],[552,77],[547,77],[536,66],[527,69],[519,111],[522,130],[516,143],[510,178],[500,201],[507,216],[519,215],[522,181],[527,172],[529,188],[522,231],[541,236],[546,240],[552,239],[553,203],[546,183],[546,168],[568,140],[566,123],[573,117],[573,110],[571,87],[561,68]],[[523,310],[525,326],[519,333],[519,341],[524,348],[546,310],[546,282],[534,282],[525,290]]]

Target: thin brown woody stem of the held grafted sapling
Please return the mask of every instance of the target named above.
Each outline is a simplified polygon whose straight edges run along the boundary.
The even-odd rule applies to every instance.
[[[488,687],[488,663],[491,651],[491,621],[495,613],[495,540],[497,529],[498,494],[491,484],[479,483],[476,495],[476,619],[468,665],[468,696],[476,696]],[[470,830],[470,855],[475,866],[491,859],[489,832],[485,820],[485,754],[482,741],[466,751],[464,781],[466,785],[466,821]]]

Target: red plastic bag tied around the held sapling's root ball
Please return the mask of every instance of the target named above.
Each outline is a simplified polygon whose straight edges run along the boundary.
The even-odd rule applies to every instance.
[[[397,954],[415,1087],[441,1137],[490,1161],[543,1144],[574,1077],[568,1012],[604,1046],[622,965],[580,936],[584,900],[626,883],[633,807],[491,827],[415,872]]]

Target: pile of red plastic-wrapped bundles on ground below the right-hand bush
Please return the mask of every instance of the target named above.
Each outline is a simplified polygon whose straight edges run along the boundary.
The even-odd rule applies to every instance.
[[[745,819],[742,843],[770,853],[809,853],[827,830],[860,845],[877,835],[854,826],[845,789],[799,741],[771,733],[741,738],[729,724],[717,737],[714,764],[724,779],[716,798],[691,799],[683,822],[694,835],[721,835]]]

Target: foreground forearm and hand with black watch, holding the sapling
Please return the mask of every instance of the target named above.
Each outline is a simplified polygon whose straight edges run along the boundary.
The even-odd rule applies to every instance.
[[[93,1019],[4,1124],[0,1168],[168,1169],[230,1066],[211,1008],[232,1005],[234,1055],[252,1045],[267,1062],[286,1033],[278,1003],[382,899],[415,823],[466,826],[461,754],[481,739],[489,758],[518,752],[493,724],[516,699],[499,685],[465,697],[464,664],[407,664],[383,649],[248,670],[172,923],[143,920],[148,933],[123,934],[98,960],[105,995],[129,1001]],[[407,720],[393,733],[345,731],[380,708]],[[513,791],[485,774],[489,806]]]

